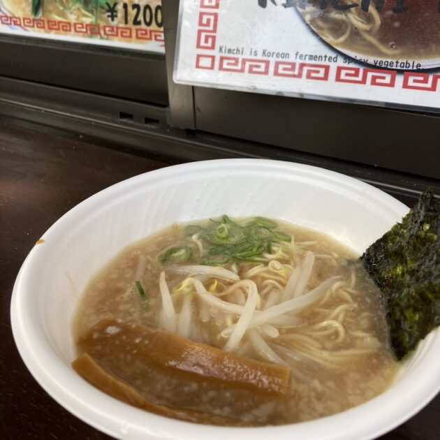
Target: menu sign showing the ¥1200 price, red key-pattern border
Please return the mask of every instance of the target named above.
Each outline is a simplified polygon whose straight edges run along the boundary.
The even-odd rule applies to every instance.
[[[165,53],[161,0],[0,0],[0,34]]]

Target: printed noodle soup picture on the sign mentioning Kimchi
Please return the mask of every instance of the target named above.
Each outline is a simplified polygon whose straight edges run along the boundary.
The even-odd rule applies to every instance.
[[[440,13],[431,0],[295,0],[330,45],[381,59],[440,58]]]

